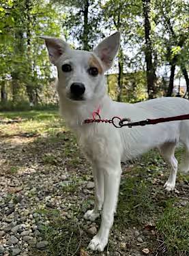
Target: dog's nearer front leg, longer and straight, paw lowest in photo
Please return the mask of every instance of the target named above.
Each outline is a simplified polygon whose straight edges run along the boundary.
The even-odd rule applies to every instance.
[[[102,222],[98,234],[93,237],[89,248],[93,251],[104,251],[108,243],[109,231],[113,225],[114,213],[119,193],[119,182],[121,176],[120,163],[117,167],[104,169],[104,205],[102,209]]]

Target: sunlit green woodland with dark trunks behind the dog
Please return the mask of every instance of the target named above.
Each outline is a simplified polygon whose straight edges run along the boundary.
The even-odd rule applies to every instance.
[[[56,70],[40,35],[91,51],[119,30],[106,74],[114,100],[188,98],[188,14],[187,0],[1,0],[0,111],[57,106]]]

